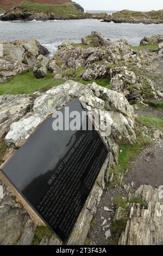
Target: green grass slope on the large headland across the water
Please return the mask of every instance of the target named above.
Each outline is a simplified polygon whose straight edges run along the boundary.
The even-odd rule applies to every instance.
[[[45,3],[33,3],[23,2],[22,7],[28,11],[34,11],[36,13],[54,13],[56,15],[84,15],[82,11],[79,11],[73,3],[65,4],[45,4]]]

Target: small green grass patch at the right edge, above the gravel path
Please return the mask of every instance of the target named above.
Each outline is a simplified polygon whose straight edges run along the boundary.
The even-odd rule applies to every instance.
[[[146,127],[155,126],[163,132],[163,119],[151,117],[151,115],[143,115],[136,118],[139,123]]]

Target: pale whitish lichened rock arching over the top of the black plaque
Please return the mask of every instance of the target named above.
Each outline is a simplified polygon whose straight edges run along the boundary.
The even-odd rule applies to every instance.
[[[32,111],[20,121],[11,124],[5,142],[9,147],[13,145],[20,147],[49,114],[71,102],[74,97],[79,97],[87,111],[103,110],[105,114],[108,113],[107,111],[111,111],[112,137],[119,144],[134,143],[134,111],[126,98],[122,94],[99,87],[96,83],[83,86],[83,84],[73,81],[67,81],[37,97]],[[108,110],[105,111],[105,109]],[[121,123],[118,119],[121,120]]]

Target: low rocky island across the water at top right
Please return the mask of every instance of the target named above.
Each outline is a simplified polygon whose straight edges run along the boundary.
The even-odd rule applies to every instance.
[[[122,10],[117,11],[112,15],[108,15],[104,22],[115,23],[144,23],[144,24],[159,24],[163,23],[163,10],[159,11],[130,11]]]

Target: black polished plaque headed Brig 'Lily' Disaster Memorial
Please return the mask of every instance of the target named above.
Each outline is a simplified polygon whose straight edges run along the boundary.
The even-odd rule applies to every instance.
[[[70,112],[84,112],[87,119],[78,99],[67,106]],[[65,107],[60,111],[65,114]],[[108,150],[94,127],[92,131],[54,131],[53,121],[52,115],[48,117],[4,164],[2,172],[66,242]]]

